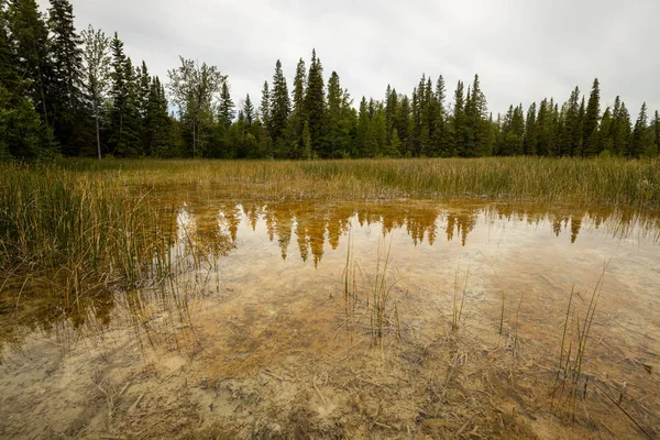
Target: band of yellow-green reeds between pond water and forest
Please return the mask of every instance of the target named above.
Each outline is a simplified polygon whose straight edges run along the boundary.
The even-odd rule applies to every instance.
[[[660,208],[660,161],[505,157],[326,162],[68,161],[129,185],[218,184],[263,199],[463,198]]]

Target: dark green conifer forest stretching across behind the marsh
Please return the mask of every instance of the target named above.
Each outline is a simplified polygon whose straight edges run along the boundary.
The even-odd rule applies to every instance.
[[[134,65],[114,33],[78,33],[68,0],[0,0],[0,158],[64,156],[339,158],[616,155],[660,151],[660,118],[641,106],[635,123],[616,97],[604,110],[594,79],[559,103],[544,98],[488,112],[480,78],[452,97],[440,75],[410,95],[355,106],[340,77],[326,82],[316,51],[287,85],[279,61],[261,101],[237,106],[216,66],[184,57],[163,81]],[[257,107],[258,106],[258,107]]]

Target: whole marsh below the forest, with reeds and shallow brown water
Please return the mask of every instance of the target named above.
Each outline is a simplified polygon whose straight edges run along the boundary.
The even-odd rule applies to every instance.
[[[616,163],[8,166],[0,438],[658,438],[660,180]]]

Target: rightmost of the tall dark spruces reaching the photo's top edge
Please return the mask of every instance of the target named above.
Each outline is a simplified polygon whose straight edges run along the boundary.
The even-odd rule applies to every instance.
[[[85,112],[81,108],[82,51],[74,26],[74,11],[68,0],[51,0],[50,55],[53,79],[51,106],[53,131],[64,154],[80,154],[85,143]]]

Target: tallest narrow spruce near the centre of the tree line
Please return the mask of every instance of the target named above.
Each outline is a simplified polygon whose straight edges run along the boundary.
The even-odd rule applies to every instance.
[[[314,50],[307,77],[305,116],[309,123],[312,152],[316,154],[321,153],[326,128],[326,94],[323,89],[323,67],[321,61],[317,58],[316,50]]]

